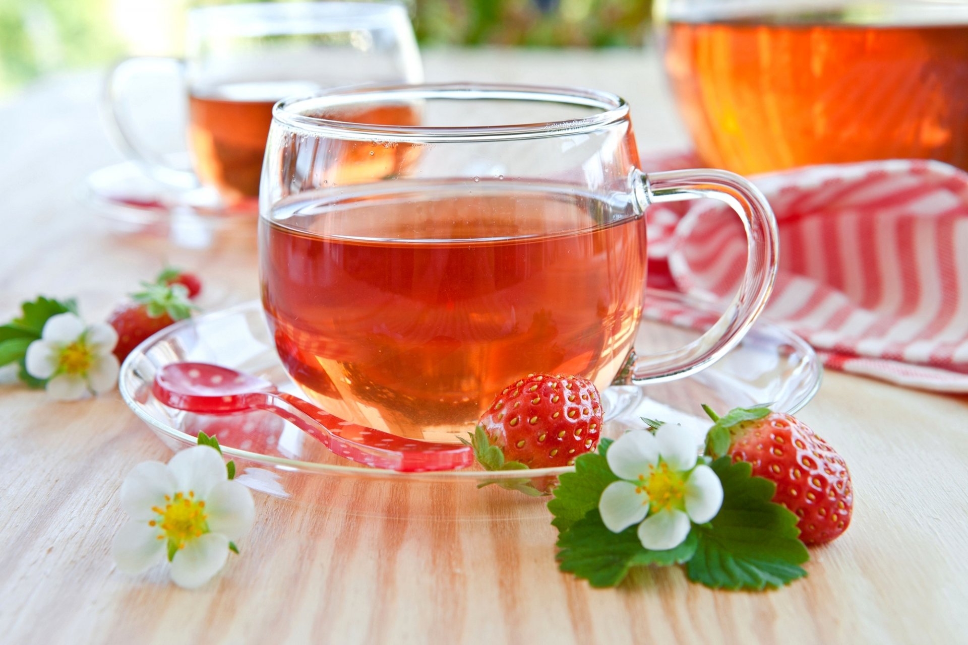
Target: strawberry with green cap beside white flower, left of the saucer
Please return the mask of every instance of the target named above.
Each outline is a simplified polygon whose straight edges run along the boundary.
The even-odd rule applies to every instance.
[[[107,318],[107,324],[118,334],[114,356],[119,361],[124,361],[145,338],[192,315],[185,285],[142,284],[144,291],[132,294],[132,302],[118,306]]]

